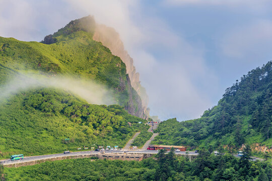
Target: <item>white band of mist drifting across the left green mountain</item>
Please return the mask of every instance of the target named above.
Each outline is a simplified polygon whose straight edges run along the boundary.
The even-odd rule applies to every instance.
[[[105,86],[92,80],[80,80],[68,76],[45,76],[40,74],[18,74],[10,77],[7,84],[0,86],[0,101],[34,88],[56,88],[72,93],[89,104],[111,105],[113,93]]]

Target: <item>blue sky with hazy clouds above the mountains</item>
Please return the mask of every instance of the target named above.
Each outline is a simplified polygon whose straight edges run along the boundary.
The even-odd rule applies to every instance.
[[[161,120],[199,118],[272,60],[270,0],[0,0],[0,36],[41,41],[88,15],[120,34]]]

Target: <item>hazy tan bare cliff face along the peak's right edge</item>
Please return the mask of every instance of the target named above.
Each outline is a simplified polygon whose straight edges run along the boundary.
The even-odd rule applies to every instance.
[[[127,51],[125,51],[119,34],[113,28],[96,24],[93,40],[99,41],[104,46],[108,47],[113,55],[120,57],[121,60],[125,63],[126,72],[129,75],[131,86],[141,97],[141,99],[138,100],[138,107],[139,109],[143,109],[144,113],[143,117],[140,117],[147,119],[149,115],[148,95],[146,93],[146,89],[140,84],[139,73],[136,72],[136,69],[133,66],[133,59],[128,55]]]

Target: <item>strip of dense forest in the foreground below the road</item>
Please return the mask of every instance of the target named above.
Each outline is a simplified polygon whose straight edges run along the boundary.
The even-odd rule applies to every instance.
[[[231,154],[210,154],[202,149],[193,161],[177,156],[172,149],[160,152],[143,161],[68,159],[45,162],[32,166],[4,168],[3,178],[8,180],[248,180],[271,181],[270,162],[250,161],[250,148],[244,157]],[[0,170],[1,171],[1,170]]]

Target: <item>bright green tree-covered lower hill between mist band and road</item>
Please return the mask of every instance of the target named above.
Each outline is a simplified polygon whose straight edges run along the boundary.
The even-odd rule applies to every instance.
[[[0,158],[57,153],[93,144],[123,147],[135,132],[149,128],[139,124],[146,120],[128,114],[121,106],[91,105],[51,88],[21,92],[0,107]]]

